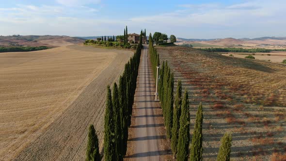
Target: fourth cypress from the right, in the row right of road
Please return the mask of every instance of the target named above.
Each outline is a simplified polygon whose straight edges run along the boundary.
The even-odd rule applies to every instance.
[[[172,139],[171,147],[174,156],[177,154],[178,137],[180,129],[180,115],[181,115],[181,105],[182,105],[182,82],[178,80],[177,92],[175,97],[175,108],[173,113],[173,127],[172,127]]]

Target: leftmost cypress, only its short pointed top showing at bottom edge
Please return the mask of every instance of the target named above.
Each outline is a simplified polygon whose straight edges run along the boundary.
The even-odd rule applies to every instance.
[[[88,141],[86,149],[86,161],[100,161],[98,138],[95,133],[94,125],[89,126]]]

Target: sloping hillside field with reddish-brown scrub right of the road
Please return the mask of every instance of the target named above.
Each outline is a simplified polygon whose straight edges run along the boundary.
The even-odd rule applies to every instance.
[[[192,48],[157,49],[160,61],[168,61],[174,72],[175,86],[181,79],[189,91],[190,134],[197,106],[203,103],[204,160],[216,160],[226,131],[233,136],[232,160],[285,159],[286,65]]]

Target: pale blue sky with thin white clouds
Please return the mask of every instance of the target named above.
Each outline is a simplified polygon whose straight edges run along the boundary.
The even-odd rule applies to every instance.
[[[0,35],[286,36],[286,0],[0,0]]]

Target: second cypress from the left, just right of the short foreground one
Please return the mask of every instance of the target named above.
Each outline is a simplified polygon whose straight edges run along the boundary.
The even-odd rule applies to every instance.
[[[107,86],[106,110],[104,118],[104,159],[105,161],[115,161],[115,138],[113,107],[110,86]]]

